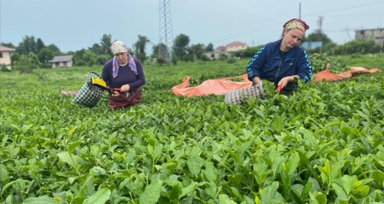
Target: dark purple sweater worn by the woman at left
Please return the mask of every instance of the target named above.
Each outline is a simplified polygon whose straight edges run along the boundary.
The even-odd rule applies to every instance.
[[[122,85],[128,84],[130,89],[133,90],[145,84],[144,72],[138,59],[134,58],[138,75],[136,75],[127,64],[124,67],[120,66],[116,78],[112,76],[112,60],[113,59],[110,59],[105,63],[101,74],[101,78],[103,78],[109,87],[120,88]]]

